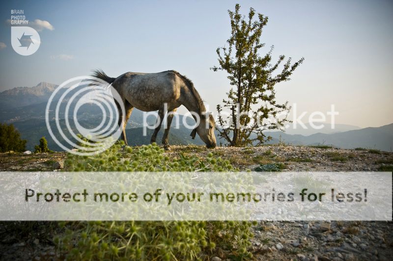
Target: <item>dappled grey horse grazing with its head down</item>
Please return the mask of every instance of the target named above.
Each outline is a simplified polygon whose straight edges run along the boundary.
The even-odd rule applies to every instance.
[[[121,137],[126,144],[125,126],[133,108],[142,111],[158,110],[156,128],[150,142],[156,141],[157,133],[167,112],[165,108],[167,108],[167,124],[162,143],[166,149],[169,149],[168,134],[173,115],[180,105],[184,105],[193,114],[196,121],[199,117],[199,125],[191,132],[192,138],[194,139],[198,133],[206,147],[216,147],[214,118],[211,114],[206,113],[202,99],[193,82],[187,77],[173,70],[161,73],[128,72],[117,78],[107,76],[102,70],[94,70],[92,76],[112,84],[122,98],[125,115],[119,115],[119,126],[123,123]],[[121,110],[118,111],[121,114]]]

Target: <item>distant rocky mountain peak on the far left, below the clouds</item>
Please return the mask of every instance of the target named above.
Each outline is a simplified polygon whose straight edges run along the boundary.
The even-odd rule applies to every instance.
[[[47,102],[58,85],[40,82],[33,87],[16,87],[0,93],[0,110]]]

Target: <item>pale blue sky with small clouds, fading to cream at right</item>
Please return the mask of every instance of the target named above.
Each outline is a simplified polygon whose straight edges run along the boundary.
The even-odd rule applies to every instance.
[[[215,110],[229,90],[216,49],[229,38],[227,10],[236,1],[2,1],[0,91],[60,84],[101,68],[125,72],[176,70],[192,79]],[[261,42],[304,63],[290,81],[276,85],[278,102],[296,104],[297,115],[326,114],[335,105],[337,124],[378,127],[393,123],[393,1],[240,1],[269,17]],[[22,56],[11,47],[11,9],[23,9],[38,29],[41,46]],[[184,113],[185,109],[179,110]],[[293,111],[289,118],[293,118]],[[330,121],[327,116],[327,122]]]

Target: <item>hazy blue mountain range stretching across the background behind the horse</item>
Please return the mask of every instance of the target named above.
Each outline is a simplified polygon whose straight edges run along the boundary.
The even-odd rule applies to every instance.
[[[27,149],[32,150],[38,143],[41,136],[48,140],[48,146],[52,150],[60,151],[56,143],[51,139],[45,123],[45,110],[49,97],[58,87],[56,84],[40,82],[33,87],[16,87],[0,93],[0,122],[12,123],[21,132],[24,139],[28,140]],[[60,104],[60,111],[64,111],[66,101]],[[71,106],[72,107],[72,106]],[[73,115],[71,109],[69,115]],[[184,115],[179,115],[182,122]],[[64,115],[59,114],[60,126],[65,129]],[[96,105],[84,105],[77,112],[77,118],[82,126],[94,127],[101,121],[101,110]],[[127,124],[126,134],[130,145],[148,144],[152,130],[148,130],[148,135],[142,136],[142,112],[134,109]],[[185,119],[189,124],[193,123],[191,117]],[[154,117],[149,117],[149,124],[154,124]],[[287,143],[292,145],[333,145],[340,148],[352,149],[356,147],[374,148],[383,151],[393,149],[393,124],[361,129],[357,126],[336,124],[332,129],[329,124],[324,124],[324,128],[314,130],[306,124],[307,129],[294,129],[290,126],[285,132],[269,131],[265,134],[272,137],[269,144]],[[75,130],[75,129],[74,129]],[[162,132],[160,131],[157,141],[161,142]],[[203,142],[197,136],[191,139],[190,130],[180,125],[179,129],[171,128],[169,134],[170,144],[197,144]],[[216,133],[218,134],[218,133]],[[216,135],[217,136],[217,135]],[[218,138],[218,136],[217,136]],[[225,144],[224,140],[218,139],[218,144]]]

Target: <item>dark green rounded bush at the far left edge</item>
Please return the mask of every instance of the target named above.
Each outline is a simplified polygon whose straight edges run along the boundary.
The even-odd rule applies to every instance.
[[[21,134],[15,129],[14,125],[0,123],[0,152],[26,150],[27,140],[21,139]]]

